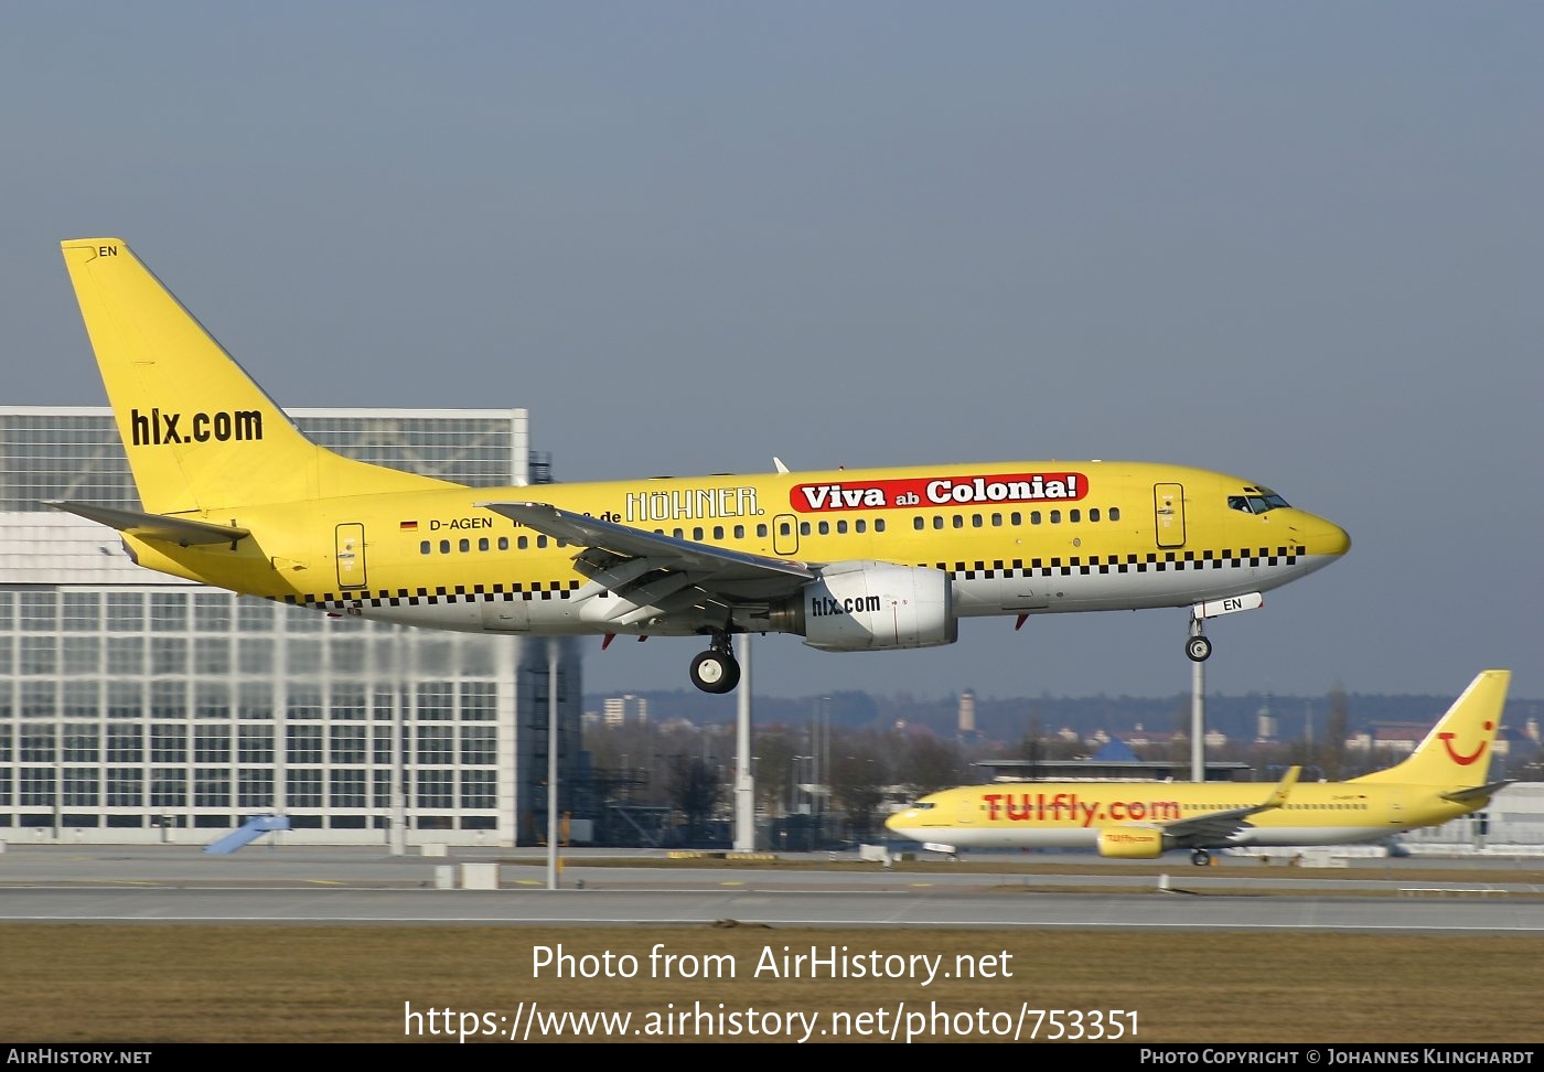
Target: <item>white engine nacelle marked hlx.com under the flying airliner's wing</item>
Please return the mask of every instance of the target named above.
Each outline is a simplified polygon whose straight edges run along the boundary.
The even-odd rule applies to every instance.
[[[891,562],[834,562],[797,599],[775,607],[772,621],[823,652],[936,647],[959,639],[948,575]]]

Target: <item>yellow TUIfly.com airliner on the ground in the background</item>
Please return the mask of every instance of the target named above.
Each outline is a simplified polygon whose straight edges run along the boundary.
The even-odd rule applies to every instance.
[[[1095,848],[1150,860],[1189,848],[1345,845],[1437,826],[1479,811],[1508,785],[1485,783],[1508,670],[1484,670],[1403,763],[1349,782],[1001,782],[922,797],[891,831],[957,848]]]

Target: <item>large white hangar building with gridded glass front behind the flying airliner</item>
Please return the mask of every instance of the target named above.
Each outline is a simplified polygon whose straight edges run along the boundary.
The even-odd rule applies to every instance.
[[[480,487],[550,479],[523,409],[290,416],[366,462]],[[141,508],[107,408],[0,408],[0,842],[201,843],[262,812],[300,843],[545,840],[550,641],[187,584],[51,499]],[[582,694],[577,649],[559,644],[570,786]]]

